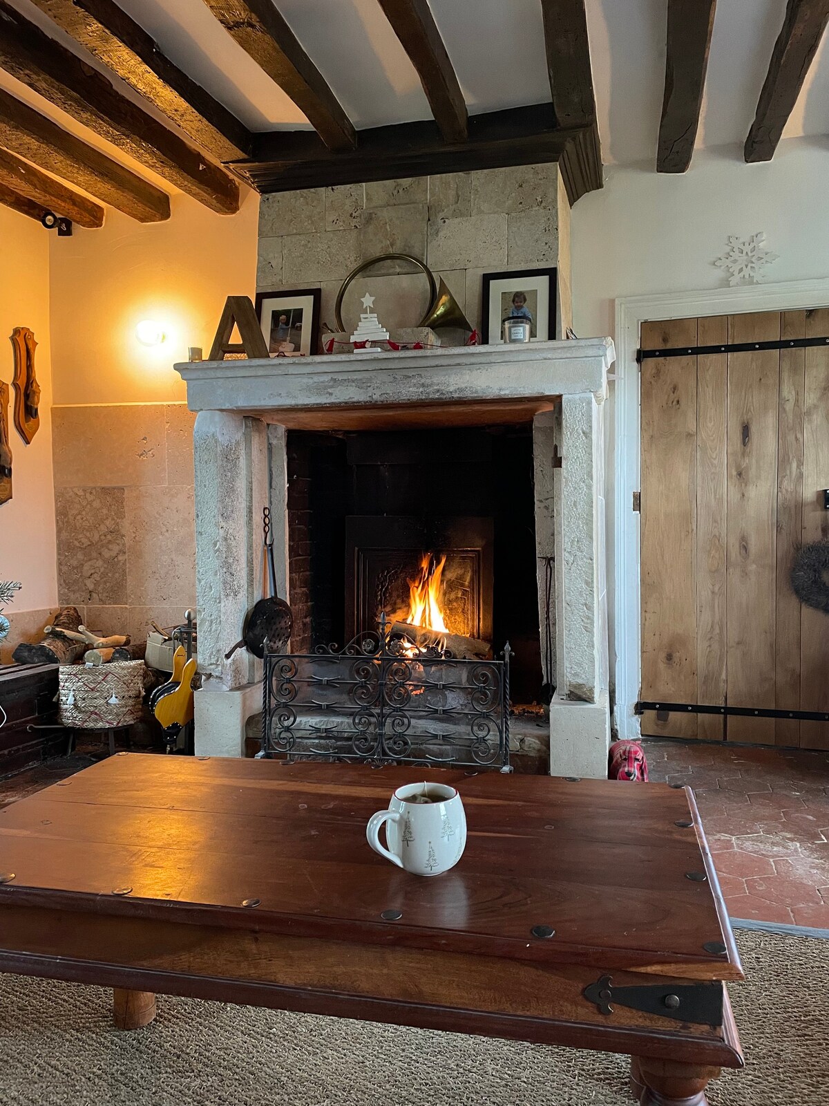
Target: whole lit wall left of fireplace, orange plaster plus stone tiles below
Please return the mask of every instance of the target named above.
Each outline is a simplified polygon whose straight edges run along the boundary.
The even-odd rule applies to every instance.
[[[57,598],[105,633],[196,606],[195,416],[172,364],[209,351],[224,299],[252,295],[259,197],[235,216],[171,197],[167,222],[107,209],[51,257]],[[143,346],[136,324],[159,322]]]

